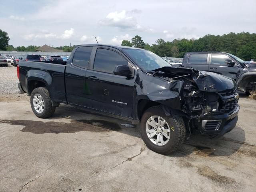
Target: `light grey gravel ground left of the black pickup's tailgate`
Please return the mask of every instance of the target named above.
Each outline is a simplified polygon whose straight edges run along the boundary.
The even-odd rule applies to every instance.
[[[0,67],[0,102],[29,99],[26,94],[20,94],[18,88],[16,67]]]

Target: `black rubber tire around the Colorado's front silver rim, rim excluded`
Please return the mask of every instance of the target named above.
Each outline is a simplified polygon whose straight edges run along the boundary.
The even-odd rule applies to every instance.
[[[168,140],[167,138],[167,143],[166,144],[162,144],[162,142],[158,142],[158,145],[153,143],[152,140],[154,140],[154,138],[149,138],[148,134],[147,134],[147,127],[148,127],[148,120],[150,120],[149,118],[154,116],[160,116],[160,118],[162,118],[163,120],[166,121],[167,125],[165,124],[165,128],[169,127],[170,129],[170,134],[169,137],[170,139]],[[153,128],[152,126],[149,126],[151,128]],[[158,127],[159,128],[159,127]],[[167,130],[165,129],[164,130]],[[154,130],[156,130],[156,128],[153,128]],[[152,130],[152,129],[150,129]],[[153,131],[153,130],[152,130]],[[162,129],[160,131],[163,131]],[[166,116],[161,108],[161,106],[154,106],[151,107],[149,109],[147,109],[144,114],[142,115],[142,118],[140,120],[140,133],[142,135],[142,139],[145,142],[146,146],[156,152],[156,153],[160,153],[160,154],[170,154],[174,151],[176,151],[181,144],[184,142],[185,140],[185,136],[186,136],[186,128],[185,128],[185,124],[184,124],[184,120],[182,119],[182,117],[172,117],[172,116]],[[160,134],[160,132],[156,132],[155,134]],[[158,136],[158,135],[155,135]],[[159,135],[160,136],[160,135]],[[164,132],[162,133],[162,137],[164,137]],[[166,142],[164,141],[164,142]],[[155,140],[154,140],[155,142]],[[161,146],[162,145],[162,146]]]

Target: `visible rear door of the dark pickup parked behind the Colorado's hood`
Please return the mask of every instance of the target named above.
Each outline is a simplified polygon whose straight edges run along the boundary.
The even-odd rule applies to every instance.
[[[200,71],[208,71],[209,56],[208,53],[193,53],[188,57],[188,61],[185,62],[184,67],[193,68]]]

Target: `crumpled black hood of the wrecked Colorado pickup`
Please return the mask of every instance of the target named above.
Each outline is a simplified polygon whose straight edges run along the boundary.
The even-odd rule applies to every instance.
[[[192,68],[162,67],[154,70],[154,73],[156,72],[164,72],[177,76],[190,74],[190,78],[194,80],[200,91],[221,92],[236,87],[236,82],[231,78],[213,72],[198,71]]]

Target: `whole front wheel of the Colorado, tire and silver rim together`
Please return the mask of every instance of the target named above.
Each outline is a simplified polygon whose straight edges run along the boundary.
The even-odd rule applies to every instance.
[[[144,112],[140,132],[152,151],[170,154],[184,142],[186,128],[182,117],[166,116],[160,106],[154,106]]]

